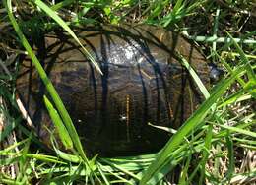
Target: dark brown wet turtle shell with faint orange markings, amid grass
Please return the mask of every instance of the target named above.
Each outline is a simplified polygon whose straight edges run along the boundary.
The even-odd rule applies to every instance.
[[[62,31],[45,34],[36,47],[82,144],[102,155],[160,150],[169,136],[148,123],[178,128],[202,101],[178,53],[207,85],[205,57],[178,33],[154,26],[104,26],[79,29],[76,34],[103,75]],[[45,126],[52,130],[53,124],[42,101],[46,91],[28,59],[22,62],[17,90],[38,137],[49,144]]]

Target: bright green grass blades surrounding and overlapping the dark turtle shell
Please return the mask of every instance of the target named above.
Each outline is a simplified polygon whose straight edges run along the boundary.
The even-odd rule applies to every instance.
[[[39,0],[4,0],[0,4],[0,183],[255,183],[255,8],[253,1],[242,0],[64,0],[54,5]],[[71,26],[100,22],[146,23],[182,31],[199,42],[209,61],[224,69],[224,78],[209,92],[190,70],[206,100],[157,154],[87,157],[58,93],[28,41],[37,27],[61,27],[79,42]],[[49,114],[72,154],[57,146],[54,153],[32,147],[39,141],[22,124],[16,104],[17,53],[27,53],[32,58],[53,99],[50,102],[45,97]],[[85,54],[97,66],[86,50]],[[51,141],[54,144],[53,136]]]

